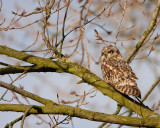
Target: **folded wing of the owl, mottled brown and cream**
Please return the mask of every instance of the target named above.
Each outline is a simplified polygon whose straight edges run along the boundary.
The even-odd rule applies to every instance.
[[[110,69],[109,83],[121,93],[141,97],[141,92],[137,87],[138,79],[131,67],[123,60],[111,60],[105,65]]]

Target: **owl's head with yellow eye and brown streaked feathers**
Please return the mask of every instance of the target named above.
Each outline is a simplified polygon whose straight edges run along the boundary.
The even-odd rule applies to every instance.
[[[110,58],[111,59],[122,59],[122,55],[119,52],[119,50],[112,45],[109,45],[107,47],[103,47],[102,55],[100,57],[100,62],[104,61],[104,59],[108,60]]]

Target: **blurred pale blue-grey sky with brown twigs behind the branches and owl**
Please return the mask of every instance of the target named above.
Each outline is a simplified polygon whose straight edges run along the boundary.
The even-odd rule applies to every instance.
[[[53,45],[58,44],[63,38],[62,28],[67,2],[67,0],[55,0],[51,10],[52,14],[48,19],[46,35]],[[43,26],[41,7],[47,3],[49,0],[1,0],[0,45],[6,45],[19,51],[24,50],[26,53],[36,56],[53,57],[54,53],[47,48],[41,35]],[[64,33],[73,31],[64,40],[62,54],[102,78],[99,64],[101,49],[105,45],[114,45],[113,42],[116,42],[123,58],[127,59],[147,29],[156,4],[156,0],[71,0],[68,6]],[[99,14],[100,16],[98,16]],[[90,22],[90,20],[92,21]],[[83,27],[76,29],[82,25]],[[142,92],[142,98],[160,76],[160,40],[156,38],[159,37],[159,34],[160,25],[157,25],[155,31],[130,63],[139,78],[137,84]],[[59,46],[57,49],[59,50]],[[30,65],[2,54],[0,55],[0,62],[11,65]],[[3,67],[5,66],[0,65],[0,68]],[[15,80],[13,85],[23,87],[31,93],[56,103],[78,106],[86,110],[107,114],[113,114],[116,111],[117,103],[115,101],[96,91],[91,85],[77,84],[80,78],[75,75],[54,72],[27,73],[17,79],[19,76],[20,74],[0,75],[0,80],[6,83]],[[0,96],[5,91],[6,89],[0,88]],[[159,91],[160,85],[157,85],[144,104],[150,108],[156,107],[160,101]],[[84,94],[87,94],[85,99],[81,98]],[[10,91],[7,92],[4,99],[0,101],[1,104],[40,105]],[[126,108],[122,108],[120,113],[126,110]],[[156,111],[160,112],[159,110]],[[0,127],[4,127],[21,115],[23,113],[0,112]],[[124,115],[128,115],[128,113]],[[54,115],[54,117],[57,118],[58,116]],[[65,117],[60,116],[58,121]],[[48,115],[31,115],[26,118],[24,127],[48,128],[50,124],[52,125],[52,121]],[[57,127],[97,128],[100,124],[102,123],[72,118],[68,124],[60,124]],[[17,127],[20,127],[20,122],[14,125],[14,128]],[[105,127],[116,128],[118,125],[107,124]]]

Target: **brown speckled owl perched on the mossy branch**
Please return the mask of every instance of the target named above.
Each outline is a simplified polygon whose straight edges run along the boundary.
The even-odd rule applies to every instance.
[[[141,98],[141,92],[136,83],[138,78],[116,47],[112,45],[104,47],[99,61],[106,83],[125,95]]]

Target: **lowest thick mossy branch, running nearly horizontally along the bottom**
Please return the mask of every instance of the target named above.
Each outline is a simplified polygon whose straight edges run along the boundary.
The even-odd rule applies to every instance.
[[[0,104],[0,111],[25,112],[29,107],[31,107],[31,105]],[[91,121],[123,124],[128,126],[142,126],[142,127],[160,126],[160,124],[158,123],[156,124],[156,122],[158,121],[160,122],[160,118],[158,116],[152,118],[150,117],[149,119],[140,119],[137,117],[124,117],[124,116],[92,112],[80,108],[74,108],[67,105],[36,106],[32,108],[28,114],[61,114],[61,115],[69,115],[71,117],[88,119]]]

